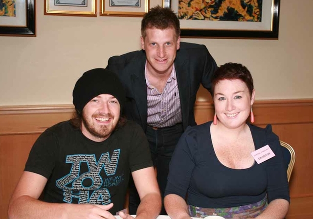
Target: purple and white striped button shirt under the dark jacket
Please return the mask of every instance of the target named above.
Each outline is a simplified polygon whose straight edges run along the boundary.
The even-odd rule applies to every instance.
[[[145,78],[148,102],[147,125],[164,128],[181,123],[182,116],[175,66],[173,65],[171,76],[162,93],[149,84],[147,69],[145,69]]]

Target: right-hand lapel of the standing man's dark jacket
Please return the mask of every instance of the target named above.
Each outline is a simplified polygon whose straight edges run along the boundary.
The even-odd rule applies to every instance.
[[[179,88],[179,99],[181,104],[181,115],[184,129],[189,121],[190,103],[190,72],[188,71],[189,61],[179,56],[179,51],[175,59],[175,70]]]

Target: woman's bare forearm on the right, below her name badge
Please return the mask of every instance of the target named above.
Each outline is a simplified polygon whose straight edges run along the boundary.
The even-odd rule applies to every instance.
[[[289,202],[285,199],[272,200],[257,219],[284,219],[288,213]]]

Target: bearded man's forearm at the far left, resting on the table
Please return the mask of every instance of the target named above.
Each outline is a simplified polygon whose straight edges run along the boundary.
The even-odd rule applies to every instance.
[[[11,201],[9,219],[62,219],[67,204],[47,203],[29,196],[21,196]]]

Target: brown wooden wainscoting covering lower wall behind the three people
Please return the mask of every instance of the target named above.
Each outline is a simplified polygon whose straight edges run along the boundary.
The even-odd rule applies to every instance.
[[[281,140],[291,144],[296,162],[291,175],[291,206],[287,219],[313,218],[313,99],[255,101],[255,125],[272,124]],[[39,134],[69,119],[72,105],[0,107],[0,219]],[[212,120],[212,102],[197,102],[198,124]]]

